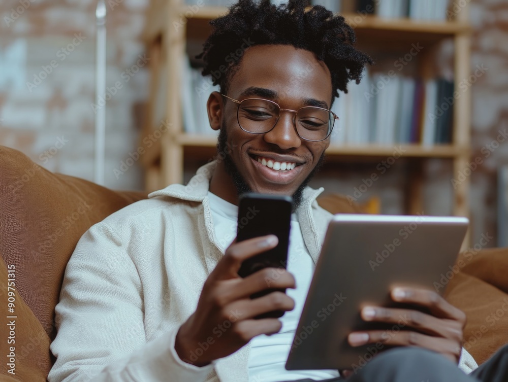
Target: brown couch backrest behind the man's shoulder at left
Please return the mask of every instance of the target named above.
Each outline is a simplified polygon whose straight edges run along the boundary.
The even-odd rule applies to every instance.
[[[81,235],[145,193],[115,192],[55,174],[0,146],[0,255],[16,289],[50,339],[65,267]]]

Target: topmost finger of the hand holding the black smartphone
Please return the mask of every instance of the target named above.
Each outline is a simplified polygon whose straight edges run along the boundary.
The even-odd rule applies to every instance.
[[[245,259],[275,248],[277,244],[278,238],[275,235],[233,242],[226,249],[223,258],[217,263],[210,276],[215,280],[227,280],[238,277],[237,272]]]

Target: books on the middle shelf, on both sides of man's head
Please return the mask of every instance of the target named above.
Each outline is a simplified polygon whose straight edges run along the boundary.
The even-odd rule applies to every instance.
[[[210,128],[206,102],[218,85],[201,68],[183,63],[181,76],[184,131],[216,135]],[[366,73],[360,82],[348,84],[332,111],[339,117],[331,135],[336,145],[396,143],[432,146],[452,142],[454,84],[444,79]]]

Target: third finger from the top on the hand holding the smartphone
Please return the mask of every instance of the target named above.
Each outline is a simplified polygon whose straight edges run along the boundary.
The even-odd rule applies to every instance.
[[[295,300],[279,291],[274,291],[255,299],[246,298],[238,300],[227,307],[228,311],[240,312],[241,320],[248,320],[273,310],[288,311],[294,308]]]

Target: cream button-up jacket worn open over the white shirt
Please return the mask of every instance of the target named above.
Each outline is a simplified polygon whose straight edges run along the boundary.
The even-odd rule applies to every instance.
[[[223,256],[207,197],[214,168],[206,164],[187,186],[153,192],[81,237],[55,309],[49,382],[248,381],[249,344],[202,368],[174,350]],[[314,262],[332,218],[315,201],[322,191],[307,187],[297,211]]]

